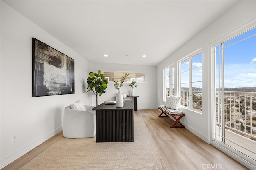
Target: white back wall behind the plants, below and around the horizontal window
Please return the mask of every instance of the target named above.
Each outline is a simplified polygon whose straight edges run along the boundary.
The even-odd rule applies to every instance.
[[[156,67],[143,65],[126,65],[126,64],[106,64],[106,63],[92,63],[92,72],[97,73],[101,71],[128,71],[136,73],[146,73],[146,83],[137,83],[138,87],[134,88],[135,95],[138,97],[138,110],[140,109],[155,109],[156,107]],[[121,87],[121,93],[131,93],[129,83],[124,83]],[[89,92],[88,92],[89,93]],[[92,93],[92,92],[90,92]],[[108,83],[106,93],[98,97],[98,105],[106,100],[115,100],[114,96],[118,91],[114,87],[113,82]],[[128,98],[130,99],[130,97]],[[92,97],[92,103],[96,105],[96,96]]]

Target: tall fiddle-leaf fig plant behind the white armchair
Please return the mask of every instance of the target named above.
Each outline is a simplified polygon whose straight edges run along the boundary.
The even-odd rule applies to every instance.
[[[108,87],[108,81],[105,80],[105,76],[100,70],[98,70],[98,74],[90,72],[89,75],[90,77],[87,78],[87,92],[92,91],[96,95],[96,105],[98,106],[98,95],[101,96],[106,92],[104,90]]]

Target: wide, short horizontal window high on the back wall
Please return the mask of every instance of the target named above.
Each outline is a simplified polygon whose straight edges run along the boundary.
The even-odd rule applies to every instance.
[[[126,77],[125,82],[132,82],[136,81],[137,83],[142,83],[145,82],[145,73],[134,73],[134,72],[104,72],[105,79],[108,82],[111,81],[121,81],[121,77],[125,74],[128,73],[129,75]]]

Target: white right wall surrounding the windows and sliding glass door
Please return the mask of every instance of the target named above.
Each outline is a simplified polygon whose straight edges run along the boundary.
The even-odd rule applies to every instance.
[[[186,108],[180,108],[186,116],[182,118],[182,123],[188,130],[210,143],[211,140],[211,48],[210,43],[224,36],[228,32],[242,26],[256,17],[256,2],[242,1],[238,2],[230,10],[228,10],[218,20],[210,24],[206,29],[202,30],[198,35],[182,45],[180,49],[174,52],[170,57],[157,66],[157,104],[162,105],[163,102],[163,69],[188,54],[202,48],[202,114],[190,111]],[[196,24],[196,23],[195,23]],[[189,31],[189,29],[188,29]],[[177,65],[176,65],[177,69]],[[176,70],[176,73],[178,71]],[[178,81],[178,80],[177,80]],[[191,120],[189,120],[189,116]]]

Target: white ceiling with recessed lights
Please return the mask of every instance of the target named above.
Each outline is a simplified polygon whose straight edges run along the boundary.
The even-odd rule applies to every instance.
[[[156,66],[237,1],[4,2],[88,61]]]

